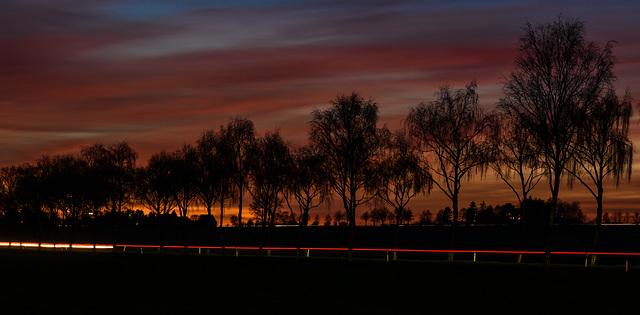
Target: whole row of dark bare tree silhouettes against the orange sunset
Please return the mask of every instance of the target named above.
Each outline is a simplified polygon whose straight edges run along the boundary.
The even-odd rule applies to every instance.
[[[277,129],[259,136],[241,117],[193,144],[153,154],[144,167],[127,143],[98,143],[79,154],[3,167],[3,218],[74,224],[134,205],[155,216],[175,211],[187,218],[202,206],[209,216],[219,209],[222,226],[225,204],[232,202],[242,225],[249,194],[254,222],[273,226],[285,209],[291,222],[305,226],[311,209],[332,201],[342,205],[352,248],[358,207],[376,201],[400,222],[413,198],[437,189],[451,201],[440,221],[450,222],[455,246],[461,215],[473,218],[469,208],[460,209],[463,185],[492,170],[513,191],[520,217],[544,212],[548,248],[561,217],[561,181],[584,185],[598,205],[595,249],[605,179],[619,184],[631,176],[632,98],[628,91],[619,97],[613,87],[614,43],[588,41],[582,21],[563,17],[527,23],[523,32],[495,111],[480,106],[472,80],[459,89],[440,87],[435,100],[411,107],[399,130],[380,126],[376,101],[353,92],[312,111],[302,146],[288,144]],[[527,206],[543,179],[549,201]]]

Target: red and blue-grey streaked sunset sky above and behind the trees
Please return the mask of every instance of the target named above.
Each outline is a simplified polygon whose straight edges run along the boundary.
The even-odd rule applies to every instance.
[[[617,42],[618,93],[640,99],[638,13],[633,0],[3,0],[0,164],[127,141],[144,165],[236,116],[301,145],[311,111],[352,91],[375,99],[391,129],[445,84],[477,80],[480,103],[492,110],[521,27],[560,14],[583,20],[589,40]],[[630,132],[638,145],[637,114]],[[634,168],[631,182],[605,187],[605,211],[640,211]],[[548,185],[534,196],[547,199]],[[584,188],[563,188],[560,198],[592,216]],[[463,185],[461,205],[472,200],[516,199],[488,174]],[[433,191],[411,207],[447,205]]]

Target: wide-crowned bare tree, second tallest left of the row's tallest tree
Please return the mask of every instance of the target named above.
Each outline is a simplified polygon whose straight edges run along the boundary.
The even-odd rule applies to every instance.
[[[452,202],[452,246],[462,181],[473,175],[471,170],[484,170],[494,157],[487,140],[493,115],[485,114],[478,104],[476,88],[475,81],[458,90],[445,85],[436,93],[435,101],[413,107],[406,121],[425,157],[421,166],[424,173],[436,177],[434,184]]]

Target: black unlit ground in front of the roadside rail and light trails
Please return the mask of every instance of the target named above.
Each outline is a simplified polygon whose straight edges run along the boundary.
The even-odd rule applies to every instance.
[[[615,314],[640,269],[0,251],[2,314]]]

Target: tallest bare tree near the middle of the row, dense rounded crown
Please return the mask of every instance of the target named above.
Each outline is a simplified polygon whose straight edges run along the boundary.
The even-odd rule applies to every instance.
[[[357,93],[339,95],[327,110],[315,109],[309,140],[323,155],[329,183],[340,196],[349,223],[349,260],[353,257],[356,209],[374,197],[369,188],[374,180],[376,160],[382,154],[378,128],[378,105]]]

